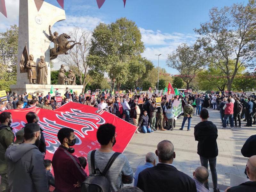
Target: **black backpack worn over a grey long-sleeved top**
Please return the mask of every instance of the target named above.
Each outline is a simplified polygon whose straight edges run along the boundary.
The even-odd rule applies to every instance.
[[[116,157],[121,153],[114,153],[108,161],[104,171],[101,173],[99,168],[95,167],[95,151],[91,153],[91,165],[92,165],[92,174],[84,180],[81,185],[81,192],[111,192],[109,181],[106,178],[109,168],[116,160]]]

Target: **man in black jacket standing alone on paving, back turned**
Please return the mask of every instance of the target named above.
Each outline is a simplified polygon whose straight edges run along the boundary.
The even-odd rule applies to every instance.
[[[209,113],[207,109],[200,112],[201,122],[195,126],[194,136],[197,144],[197,154],[200,156],[201,165],[208,169],[208,161],[212,173],[213,191],[217,192],[218,178],[216,172],[216,157],[218,156],[217,137],[218,130],[215,124],[208,121]],[[209,189],[208,181],[204,183]]]

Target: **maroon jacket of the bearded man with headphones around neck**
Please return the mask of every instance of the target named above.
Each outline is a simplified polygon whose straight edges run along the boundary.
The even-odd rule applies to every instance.
[[[82,183],[87,174],[84,172],[76,156],[67,149],[59,147],[52,157],[52,168],[57,192],[80,192],[81,188],[75,188],[74,184]]]

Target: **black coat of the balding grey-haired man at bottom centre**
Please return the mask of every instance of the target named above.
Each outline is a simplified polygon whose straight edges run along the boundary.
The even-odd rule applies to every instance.
[[[157,164],[140,172],[137,187],[145,192],[196,192],[195,181],[174,166]]]

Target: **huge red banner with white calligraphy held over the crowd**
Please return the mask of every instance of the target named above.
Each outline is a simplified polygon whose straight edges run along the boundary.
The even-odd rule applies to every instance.
[[[60,142],[57,133],[63,127],[74,129],[76,135],[76,144],[73,146],[75,148],[74,155],[77,157],[84,156],[85,158],[87,158],[89,151],[100,148],[96,132],[101,124],[111,123],[116,126],[117,136],[113,150],[121,153],[136,131],[134,125],[107,111],[75,102],[68,102],[54,111],[37,107],[7,111],[12,113],[11,126],[14,132],[25,126],[27,123],[26,114],[29,111],[37,114],[39,117],[38,124],[44,130],[47,149],[45,159],[52,159],[54,151],[59,147]],[[88,168],[86,170],[88,172]]]

